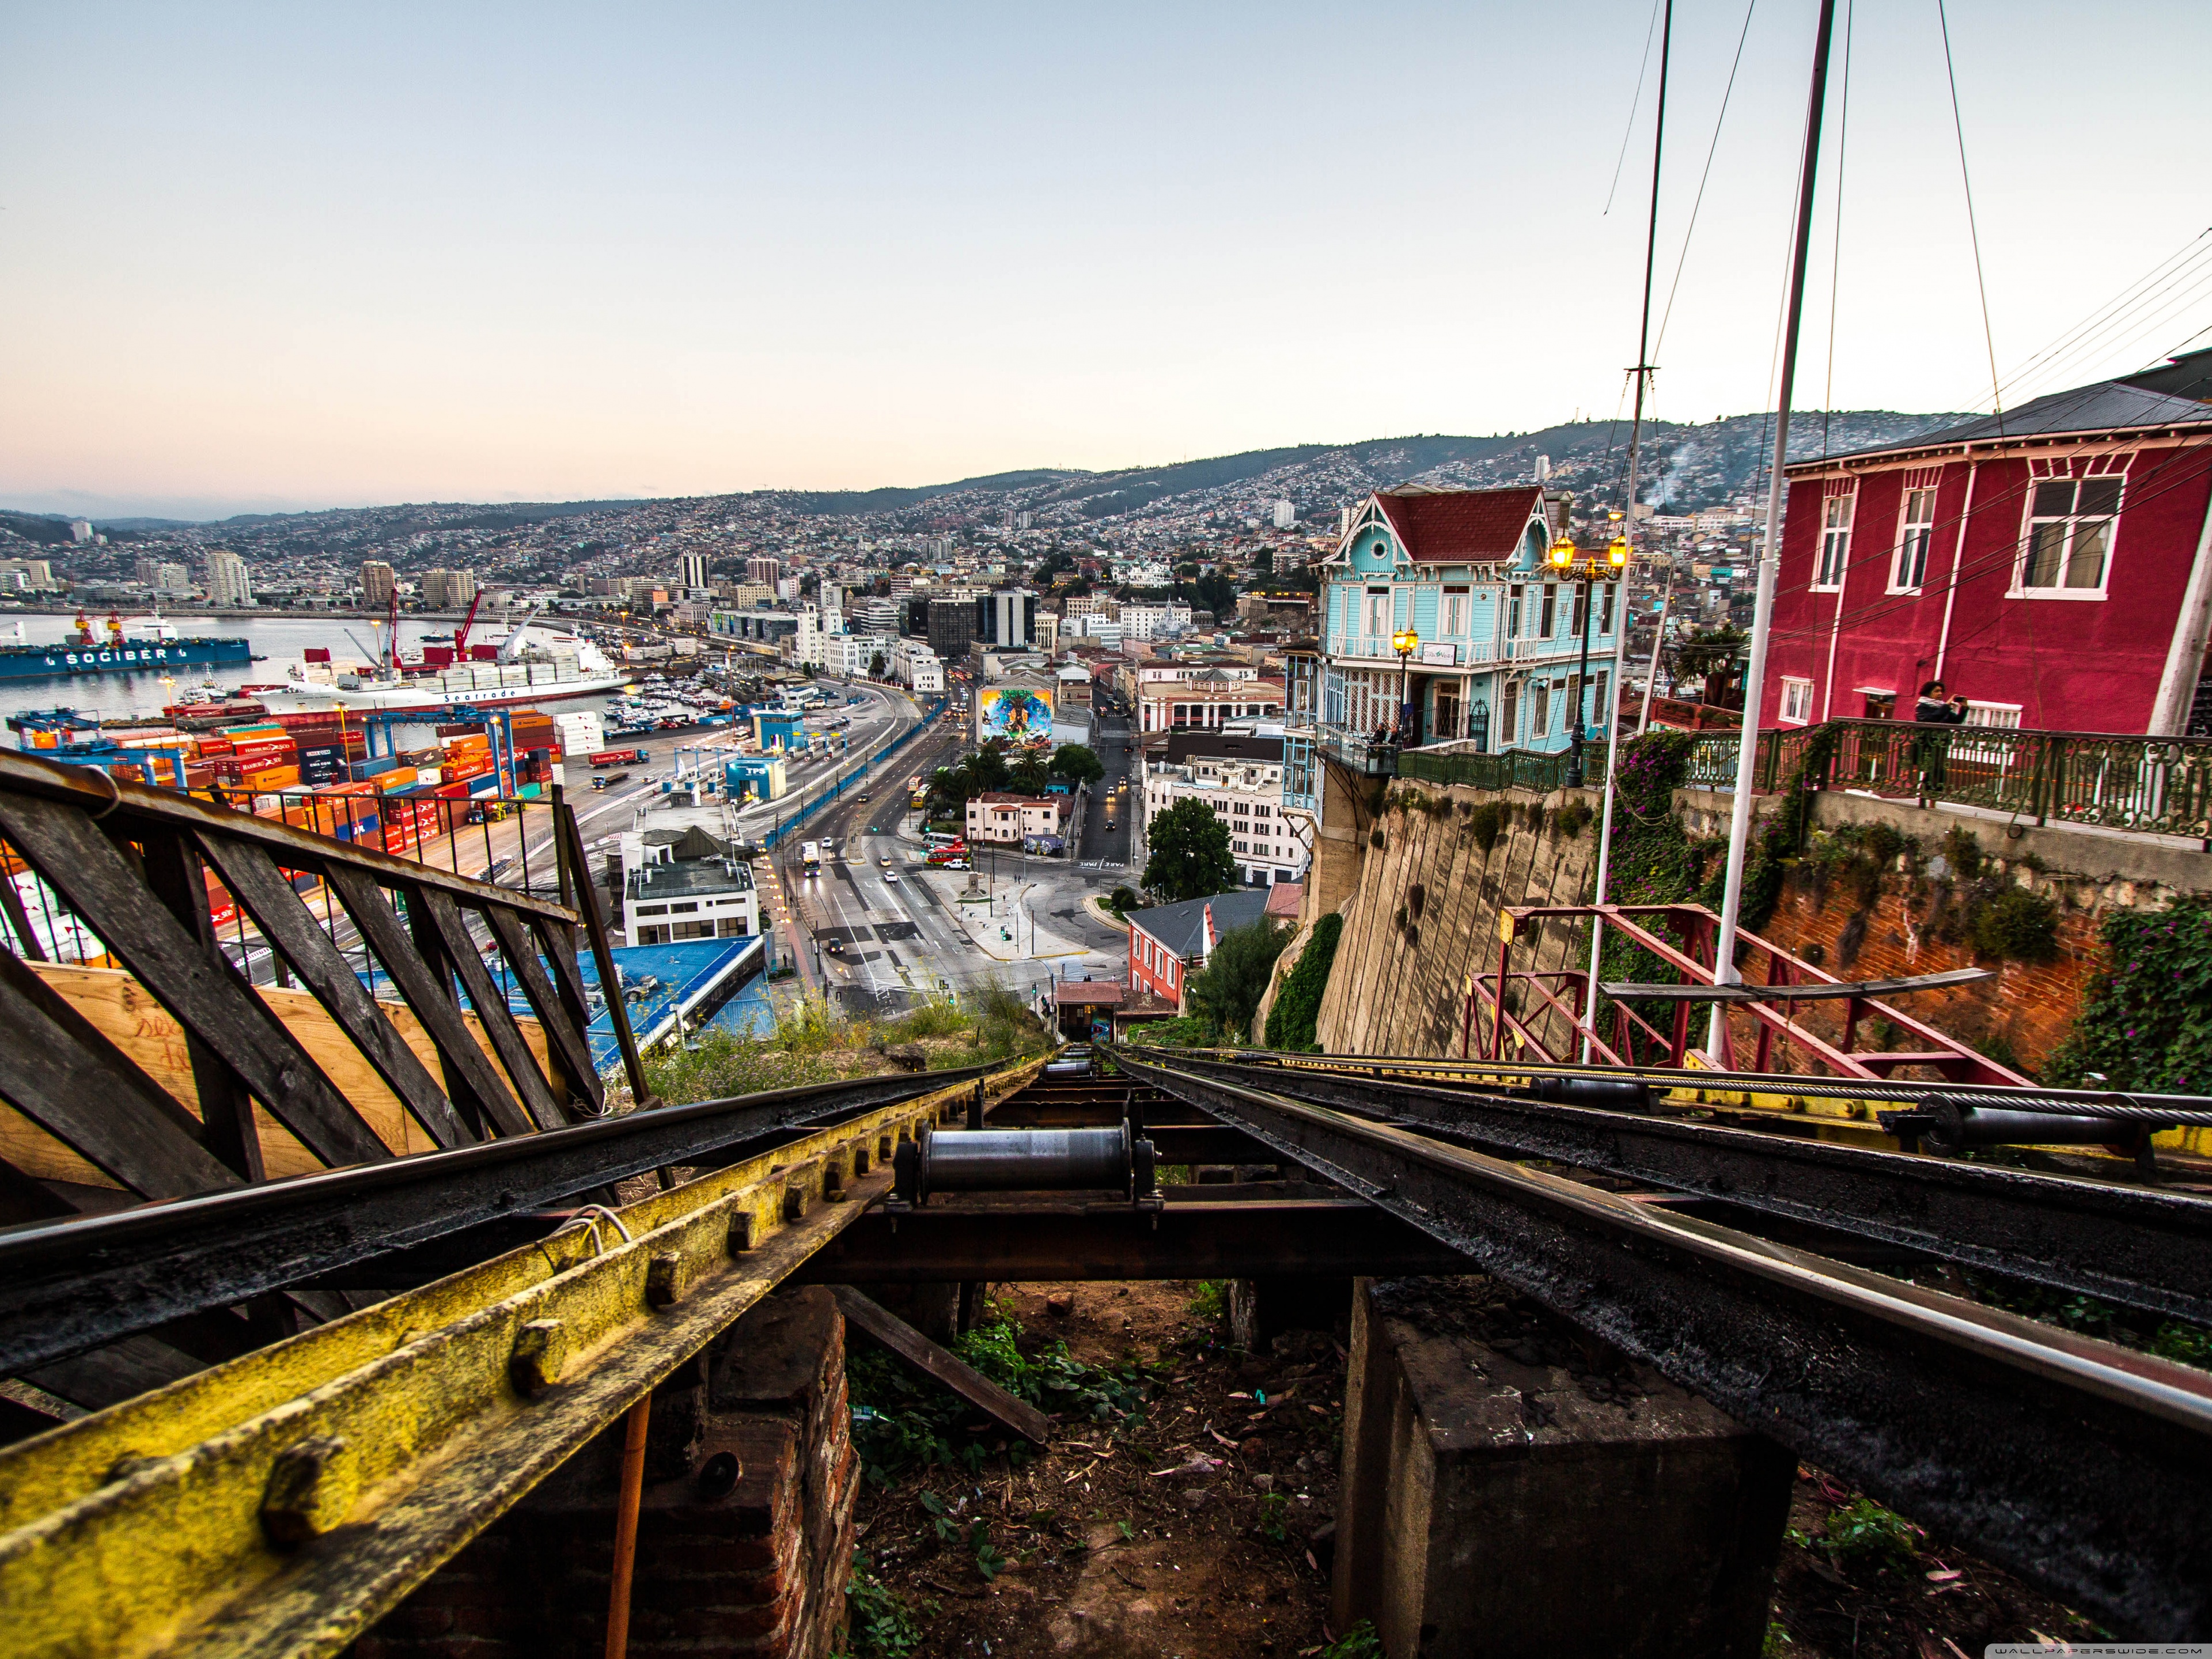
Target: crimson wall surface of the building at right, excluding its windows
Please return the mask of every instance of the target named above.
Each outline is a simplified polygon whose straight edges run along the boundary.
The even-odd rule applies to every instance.
[[[1829,480],[1792,480],[1761,726],[1781,719],[1783,677],[1814,684],[1814,721],[1865,717],[1863,688],[1893,690],[1896,714],[1911,719],[1913,697],[1936,677],[1940,653],[1942,679],[1953,692],[2020,703],[2026,728],[2148,730],[2205,526],[2212,458],[2172,442],[2137,451],[2101,599],[2006,597],[2026,535],[2033,487],[2026,456],[1942,465],[1927,577],[1918,595],[1891,595],[1909,471],[1922,469],[1885,467],[1858,478],[1840,628],[1838,595],[1812,588]],[[1973,507],[1962,546],[1969,482]]]

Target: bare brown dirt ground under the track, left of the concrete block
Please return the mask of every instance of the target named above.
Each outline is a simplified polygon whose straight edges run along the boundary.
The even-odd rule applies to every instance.
[[[1064,1425],[1035,1458],[993,1440],[973,1473],[863,1491],[856,1566],[911,1610],[916,1652],[1197,1659],[1325,1644],[1336,1343],[1292,1332],[1265,1356],[1230,1349],[1217,1301],[1188,1281],[998,1285],[993,1301],[1024,1349],[1062,1338],[1086,1365],[1152,1367],[1150,1398]]]

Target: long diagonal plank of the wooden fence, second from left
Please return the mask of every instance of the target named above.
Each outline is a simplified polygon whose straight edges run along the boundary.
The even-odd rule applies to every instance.
[[[330,1166],[392,1157],[283,1024],[234,971],[208,960],[80,807],[0,792],[0,834],[316,1157]]]

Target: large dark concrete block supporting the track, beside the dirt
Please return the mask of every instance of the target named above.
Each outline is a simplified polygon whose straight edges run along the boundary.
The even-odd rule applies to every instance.
[[[1336,1628],[1391,1659],[1752,1659],[1794,1471],[1489,1279],[1360,1281]]]

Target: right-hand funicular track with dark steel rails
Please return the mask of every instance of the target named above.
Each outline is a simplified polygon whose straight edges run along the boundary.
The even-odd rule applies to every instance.
[[[2166,1639],[2212,1630],[2212,1376],[1683,1214],[1666,1197],[1721,1192],[1754,1221],[2002,1261],[2031,1283],[2097,1281],[2097,1294],[2161,1312],[2201,1307],[2190,1263],[2212,1239],[2212,1203],[1535,1102],[1533,1075],[1498,1066],[1128,1048],[1115,1060],[2075,1606]],[[1610,1068],[1535,1071],[1621,1082]],[[1692,1077],[1721,1093],[1801,1082]],[[2135,1106],[2188,1121],[2181,1102]],[[1513,1159],[1659,1190],[1610,1192]],[[1984,1225],[2002,1230],[1995,1248],[1975,1237]]]

